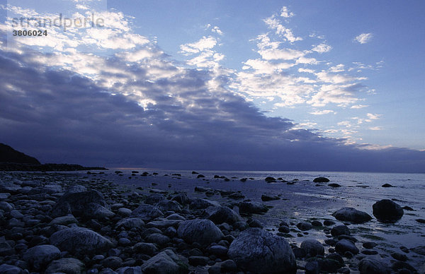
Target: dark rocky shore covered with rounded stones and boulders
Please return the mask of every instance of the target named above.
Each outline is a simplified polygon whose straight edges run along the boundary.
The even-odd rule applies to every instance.
[[[424,243],[399,246],[382,261],[388,255],[378,243],[359,241],[351,229],[402,218],[391,200],[377,201],[373,216],[341,208],[333,220],[282,218],[270,229],[256,216],[280,196],[251,201],[205,185],[174,191],[171,182],[154,189],[149,173],[142,174],[152,177],[149,186],[121,186],[88,173],[0,173],[0,273],[425,272]],[[322,238],[307,238],[313,231]]]

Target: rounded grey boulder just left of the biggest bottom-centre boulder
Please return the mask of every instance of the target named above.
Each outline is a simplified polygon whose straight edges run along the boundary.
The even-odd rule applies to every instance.
[[[179,238],[188,243],[211,244],[218,242],[224,235],[221,230],[210,220],[187,220],[179,224],[177,230]]]

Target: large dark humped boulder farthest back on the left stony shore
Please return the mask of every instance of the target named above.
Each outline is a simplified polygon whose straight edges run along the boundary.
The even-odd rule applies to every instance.
[[[103,198],[102,193],[91,190],[77,193],[65,193],[56,203],[55,207],[52,208],[53,218],[65,216],[72,213],[74,216],[93,218],[93,211],[90,209],[93,204],[100,205],[103,208],[108,208],[108,204]]]

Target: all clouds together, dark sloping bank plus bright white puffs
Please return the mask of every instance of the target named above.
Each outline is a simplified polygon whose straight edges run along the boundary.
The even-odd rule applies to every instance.
[[[293,16],[286,9],[281,12],[283,18]],[[291,85],[300,80],[278,72],[291,66],[285,61],[309,61],[306,52],[281,49],[261,36],[261,59],[246,61],[246,72],[237,73],[220,66],[224,56],[214,49],[218,40],[208,36],[181,47],[196,67],[190,68],[171,59],[147,37],[123,31],[127,24],[109,24],[101,33],[69,32],[82,37],[75,40],[77,44],[69,44],[70,37],[52,37],[42,46],[49,51],[33,50],[28,40],[11,49],[1,40],[1,142],[42,162],[108,167],[424,170],[425,152],[347,145],[344,138],[326,138],[290,119],[267,117],[235,92],[237,87],[244,93],[267,95],[273,86],[266,82],[276,85],[278,81],[283,103],[305,101],[303,95],[312,92],[308,85]],[[6,30],[3,26],[2,36]],[[113,52],[78,50],[87,44]],[[330,50],[324,45],[315,48],[321,53]],[[280,62],[270,68],[271,60]],[[348,103],[340,95],[349,93],[353,78],[314,73],[327,85],[310,98],[312,105],[322,106],[329,100]],[[287,97],[291,99],[285,101]],[[368,115],[369,119],[379,117]],[[344,125],[348,128],[350,122]]]

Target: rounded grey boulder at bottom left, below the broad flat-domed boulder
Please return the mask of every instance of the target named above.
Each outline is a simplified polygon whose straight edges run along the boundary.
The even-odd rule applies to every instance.
[[[34,270],[40,270],[51,261],[60,258],[60,250],[56,246],[42,244],[34,246],[23,254],[23,260]]]

